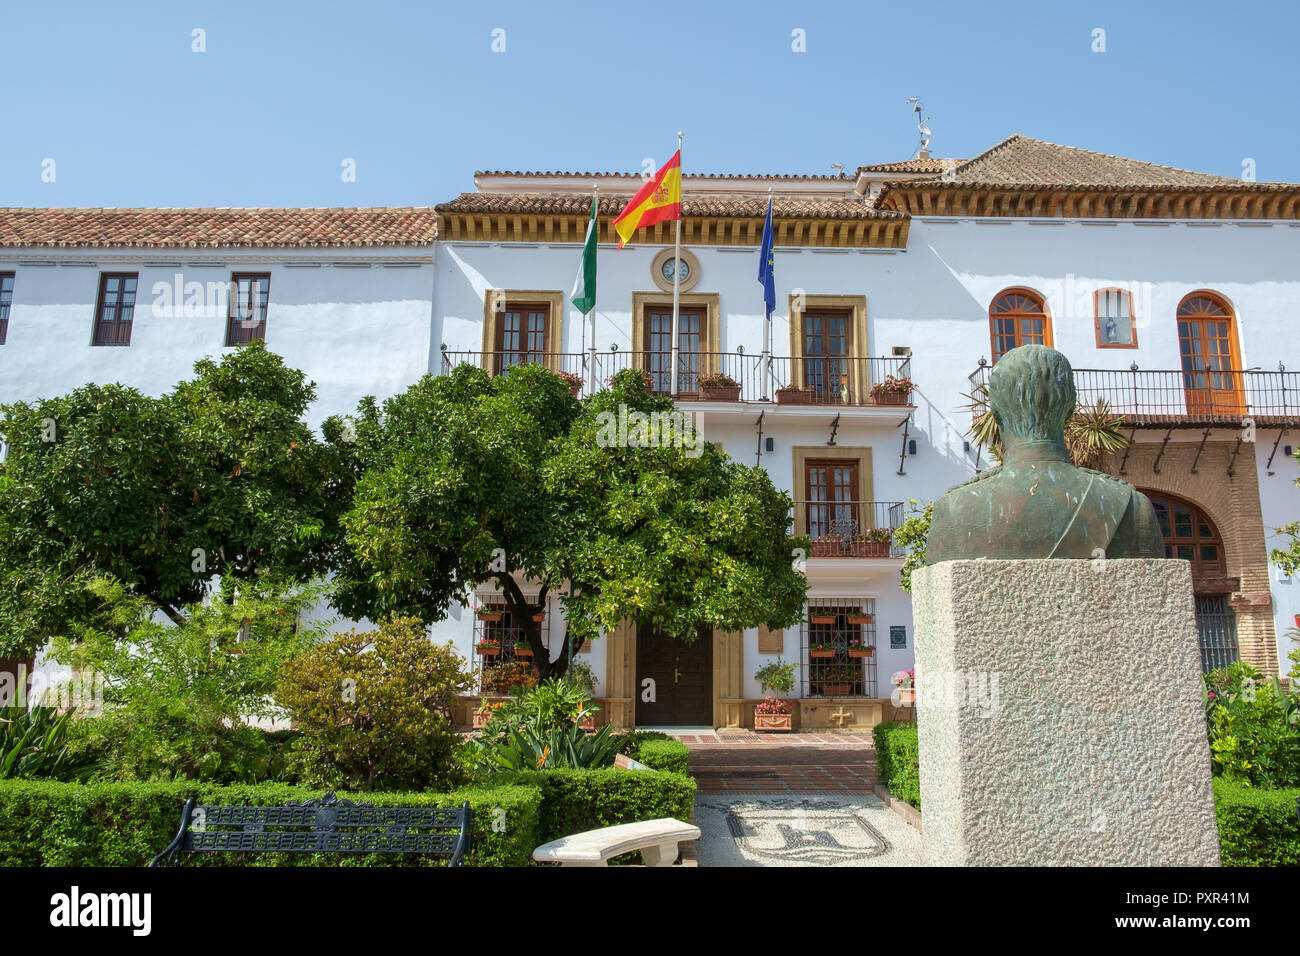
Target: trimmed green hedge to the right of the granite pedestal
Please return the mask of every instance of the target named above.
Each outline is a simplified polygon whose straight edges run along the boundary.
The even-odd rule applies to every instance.
[[[1300,866],[1300,790],[1260,790],[1214,780],[1214,816],[1225,866]]]

